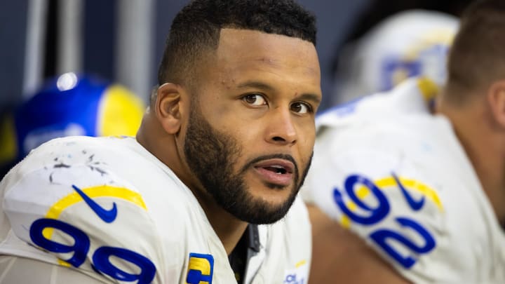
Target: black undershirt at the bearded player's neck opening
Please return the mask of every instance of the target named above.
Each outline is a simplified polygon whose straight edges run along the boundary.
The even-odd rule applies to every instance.
[[[233,269],[238,284],[242,284],[245,276],[245,268],[249,262],[248,249],[260,252],[260,236],[257,225],[249,224],[244,234],[238,241],[234,250],[228,256],[231,269]]]

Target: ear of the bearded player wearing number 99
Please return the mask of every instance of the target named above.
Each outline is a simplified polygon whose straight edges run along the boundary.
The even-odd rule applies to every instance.
[[[163,129],[169,134],[176,134],[181,127],[184,109],[182,100],[184,90],[174,83],[164,83],[159,86],[156,95],[154,111]]]

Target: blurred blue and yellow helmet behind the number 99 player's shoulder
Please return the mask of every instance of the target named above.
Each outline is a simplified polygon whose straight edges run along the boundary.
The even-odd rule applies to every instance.
[[[66,73],[0,121],[0,177],[29,151],[56,137],[135,135],[144,103],[119,84]]]

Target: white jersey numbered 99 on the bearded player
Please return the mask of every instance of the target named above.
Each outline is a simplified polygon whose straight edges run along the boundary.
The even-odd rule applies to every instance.
[[[194,195],[132,137],[43,144],[6,175],[0,197],[0,255],[105,283],[236,283]],[[244,283],[307,283],[310,224],[299,198],[257,236]]]

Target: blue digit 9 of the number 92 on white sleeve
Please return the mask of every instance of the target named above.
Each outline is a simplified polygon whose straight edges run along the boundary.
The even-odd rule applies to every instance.
[[[376,208],[371,208],[367,204],[363,203],[363,201],[356,196],[355,188],[357,184],[363,184],[363,186],[367,187],[372,191],[372,194],[377,198],[378,205]],[[335,203],[339,206],[340,210],[344,212],[349,218],[351,218],[354,222],[364,225],[375,224],[382,220],[389,213],[389,202],[387,201],[386,196],[382,194],[382,191],[366,177],[362,177],[360,175],[350,175],[344,182],[344,187],[346,194],[351,198],[351,200],[358,205],[359,208],[370,212],[369,216],[360,216],[355,214],[351,209],[347,207],[342,199],[342,194],[338,189],[333,190],[333,199]]]

